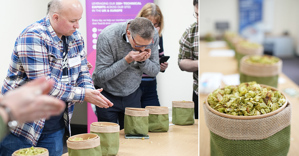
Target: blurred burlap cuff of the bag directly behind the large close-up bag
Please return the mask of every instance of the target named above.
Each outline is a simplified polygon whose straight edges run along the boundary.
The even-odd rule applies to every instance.
[[[253,77],[271,77],[278,75],[282,72],[281,59],[272,65],[265,64],[250,64],[245,60],[250,58],[251,55],[242,57],[240,61],[240,72]]]

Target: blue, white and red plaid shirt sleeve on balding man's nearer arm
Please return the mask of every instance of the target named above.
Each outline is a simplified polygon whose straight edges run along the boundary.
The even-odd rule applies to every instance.
[[[62,68],[59,67],[60,64],[55,64],[54,60],[53,62],[49,61],[46,46],[48,46],[47,40],[42,37],[42,35],[34,32],[23,34],[15,46],[15,51],[19,55],[22,64],[22,69],[20,68],[20,71],[23,70],[29,81],[47,75],[48,80],[53,80],[55,82],[50,95],[63,101],[82,103],[86,89],[66,85],[58,81],[60,80],[58,78],[60,75],[51,73],[51,68],[52,70],[53,68],[56,68],[61,71]],[[81,59],[84,59],[84,57]],[[78,84],[82,83],[82,79],[83,78],[81,78],[81,81]]]

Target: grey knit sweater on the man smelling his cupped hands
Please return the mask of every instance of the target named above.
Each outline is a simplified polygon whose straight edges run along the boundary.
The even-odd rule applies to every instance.
[[[95,86],[115,96],[127,96],[135,92],[143,72],[155,77],[160,71],[159,34],[156,29],[154,45],[146,47],[151,49],[149,59],[142,64],[135,61],[127,63],[124,57],[134,49],[122,36],[126,35],[126,24],[121,22],[107,26],[97,39],[97,58],[92,80]]]

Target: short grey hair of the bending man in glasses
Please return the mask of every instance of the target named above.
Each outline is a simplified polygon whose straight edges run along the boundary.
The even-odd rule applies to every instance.
[[[145,40],[151,40],[155,35],[155,27],[152,22],[144,17],[135,18],[129,25],[128,30],[135,37],[139,35]]]

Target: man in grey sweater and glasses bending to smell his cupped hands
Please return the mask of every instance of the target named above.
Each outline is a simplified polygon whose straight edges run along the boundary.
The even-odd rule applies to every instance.
[[[160,71],[159,34],[150,20],[143,17],[116,23],[102,30],[97,39],[94,87],[113,107],[96,107],[98,121],[114,122],[123,129],[126,107],[141,108],[143,72],[155,77]]]

